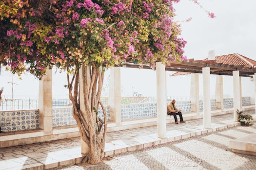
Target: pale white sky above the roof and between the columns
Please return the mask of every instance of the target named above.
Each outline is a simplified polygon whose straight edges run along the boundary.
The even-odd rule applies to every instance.
[[[256,0],[198,0],[202,6],[215,13],[214,19],[190,0],[180,0],[175,5],[176,20],[193,17],[190,22],[181,23],[182,37],[187,41],[185,55],[188,58],[204,59],[208,51],[215,50],[216,56],[239,53],[256,60]],[[54,73],[54,71],[53,71]],[[167,72],[167,95],[189,96],[190,76],[169,77]],[[106,78],[108,76],[106,73]],[[31,75],[23,75],[22,80],[14,76],[15,98],[37,98],[39,82]],[[249,78],[243,78],[243,96],[250,94]],[[7,82],[12,75],[3,69],[0,74],[0,87],[4,87],[3,95],[10,98],[12,87]],[[106,83],[106,82],[105,82]],[[53,97],[67,96],[66,75],[53,74]],[[200,89],[201,89],[200,78]],[[153,70],[121,69],[122,96],[132,96],[133,91],[143,96],[156,96],[156,72]],[[231,76],[224,76],[224,93],[232,96],[233,83]],[[215,93],[215,76],[211,76],[211,94]]]

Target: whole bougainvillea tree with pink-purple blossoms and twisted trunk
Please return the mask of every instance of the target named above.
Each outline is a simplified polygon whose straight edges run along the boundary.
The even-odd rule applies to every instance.
[[[148,65],[186,60],[173,3],[179,0],[1,0],[0,64],[42,78],[67,71],[69,98],[84,161],[103,158],[106,113],[100,102],[104,70],[127,61]],[[101,106],[104,120],[98,118]]]

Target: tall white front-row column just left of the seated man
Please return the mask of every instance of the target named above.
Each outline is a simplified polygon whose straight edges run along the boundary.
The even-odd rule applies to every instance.
[[[165,65],[157,62],[157,117],[158,117],[158,137],[166,137],[166,73]]]

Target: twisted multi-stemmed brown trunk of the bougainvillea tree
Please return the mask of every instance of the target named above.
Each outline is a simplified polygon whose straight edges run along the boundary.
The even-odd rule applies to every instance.
[[[81,139],[89,148],[83,162],[98,164],[104,156],[107,128],[107,115],[100,102],[104,71],[98,67],[82,65],[71,80],[69,74],[67,78],[73,117],[78,123]],[[103,110],[104,121],[98,117],[99,105]]]

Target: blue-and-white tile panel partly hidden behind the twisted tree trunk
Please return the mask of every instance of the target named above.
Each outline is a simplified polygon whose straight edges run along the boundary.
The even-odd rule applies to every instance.
[[[108,120],[110,120],[109,105],[105,105],[105,110],[107,112]],[[101,107],[99,107],[98,114],[99,118],[103,119],[103,111]],[[73,118],[72,107],[53,108],[53,127],[74,124],[77,124],[77,122]]]

